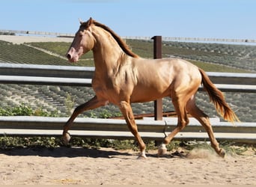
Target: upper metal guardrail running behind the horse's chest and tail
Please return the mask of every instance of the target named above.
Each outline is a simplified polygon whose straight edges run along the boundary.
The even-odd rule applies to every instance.
[[[0,75],[3,84],[90,87],[94,67],[0,64]],[[256,73],[208,72],[207,75],[221,91],[256,93]]]

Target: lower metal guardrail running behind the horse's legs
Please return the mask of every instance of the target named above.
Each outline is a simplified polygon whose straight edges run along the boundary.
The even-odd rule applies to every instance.
[[[60,136],[67,117],[0,117],[0,135],[19,136]],[[256,144],[255,123],[220,122],[211,118],[214,135],[219,141],[236,141]],[[147,140],[162,141],[177,123],[176,117],[165,120],[136,120],[138,132]],[[73,136],[86,138],[133,139],[125,120],[97,119],[78,117],[70,130]],[[207,132],[193,118],[189,126],[178,133],[176,140],[208,140]]]

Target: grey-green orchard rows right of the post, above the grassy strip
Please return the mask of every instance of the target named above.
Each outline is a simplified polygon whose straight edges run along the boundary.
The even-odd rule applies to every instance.
[[[179,56],[195,61],[237,67],[256,72],[256,46],[217,43],[165,43],[165,56]]]

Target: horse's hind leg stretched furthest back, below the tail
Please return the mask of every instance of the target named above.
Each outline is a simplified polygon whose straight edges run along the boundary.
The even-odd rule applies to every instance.
[[[210,125],[210,119],[207,114],[204,114],[204,112],[201,111],[197,105],[195,105],[194,96],[192,96],[192,98],[187,102],[186,110],[189,112],[189,114],[192,115],[192,117],[195,117],[195,119],[197,119],[202,126],[204,126],[204,129],[207,131],[207,134],[210,138],[211,146],[216,151],[216,153],[223,158],[225,156],[225,150],[219,147],[219,143],[216,141],[216,138],[213,135],[213,128]]]

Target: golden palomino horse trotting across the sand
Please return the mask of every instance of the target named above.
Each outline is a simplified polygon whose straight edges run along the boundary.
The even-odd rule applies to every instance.
[[[68,130],[73,120],[82,111],[112,102],[118,105],[129,130],[138,141],[141,151],[138,158],[146,158],[145,144],[138,134],[130,104],[170,96],[177,112],[178,122],[177,127],[159,146],[159,155],[166,152],[166,145],[189,123],[186,114],[189,112],[206,129],[216,153],[225,156],[225,150],[219,148],[214,138],[209,117],[195,105],[195,93],[198,87],[204,85],[210,100],[225,120],[233,122],[238,121],[238,118],[225,102],[222,92],[213,85],[204,70],[178,58],[157,60],[140,58],[106,25],[91,18],[87,22],[80,21],[80,23],[79,30],[67,52],[67,58],[70,62],[76,62],[86,52],[93,51],[95,73],[92,87],[96,95],[73,111],[64,125],[65,143],[70,140]]]

